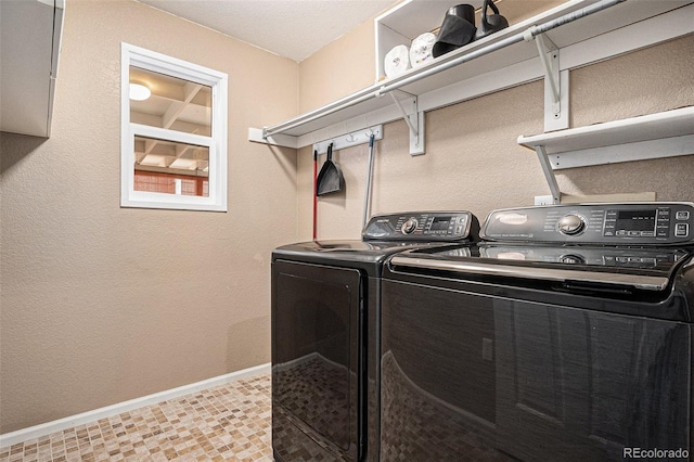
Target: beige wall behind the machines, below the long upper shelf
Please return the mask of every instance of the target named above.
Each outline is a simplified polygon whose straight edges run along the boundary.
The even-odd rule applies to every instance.
[[[692,49],[687,36],[573,70],[571,126],[694,105]],[[516,144],[519,134],[542,132],[542,92],[537,81],[427,113],[423,156],[409,155],[403,121],[387,124],[376,147],[373,213],[452,208],[484,220],[494,208],[549,194],[537,156]],[[319,200],[319,239],[359,238],[367,154],[367,145],[335,153],[346,190]],[[309,239],[310,147],[299,150],[298,165],[299,234]],[[568,194],[656,192],[658,200],[694,201],[693,171],[690,155],[561,170],[557,180]]]

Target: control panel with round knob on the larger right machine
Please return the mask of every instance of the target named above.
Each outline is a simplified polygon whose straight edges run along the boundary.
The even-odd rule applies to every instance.
[[[694,203],[576,204],[494,210],[489,241],[599,245],[694,244]]]

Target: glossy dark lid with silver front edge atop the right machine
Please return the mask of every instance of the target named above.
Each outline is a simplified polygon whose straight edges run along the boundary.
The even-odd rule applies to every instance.
[[[692,259],[686,248],[479,244],[395,256],[399,271],[447,271],[461,279],[516,279],[665,291]]]

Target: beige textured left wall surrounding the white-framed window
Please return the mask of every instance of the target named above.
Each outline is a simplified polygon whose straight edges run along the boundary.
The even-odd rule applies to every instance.
[[[0,434],[268,362],[297,240],[296,152],[246,141],[297,113],[297,63],[132,1],[64,30],[52,137],[0,136]],[[229,74],[228,213],[119,207],[121,41]]]

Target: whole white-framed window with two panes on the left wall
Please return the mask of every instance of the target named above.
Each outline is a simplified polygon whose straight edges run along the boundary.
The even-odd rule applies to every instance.
[[[120,205],[227,211],[227,74],[121,44]]]

